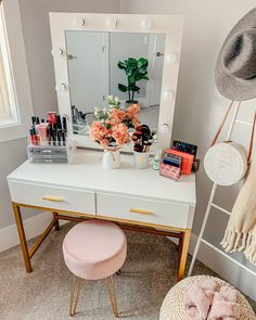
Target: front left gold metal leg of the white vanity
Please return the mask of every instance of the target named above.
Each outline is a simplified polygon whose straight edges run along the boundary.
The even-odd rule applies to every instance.
[[[18,236],[20,236],[20,242],[21,242],[21,247],[22,247],[22,252],[23,252],[23,258],[24,258],[25,266],[26,266],[26,271],[31,272],[31,270],[33,270],[31,263],[30,263],[30,258],[29,258],[29,254],[28,254],[27,241],[26,241],[26,235],[25,235],[25,231],[24,231],[24,227],[23,227],[21,209],[20,209],[20,206],[14,203],[12,204],[12,207],[13,207],[13,213],[14,213],[14,217],[15,217],[15,221],[16,221],[16,226],[17,226],[17,232],[18,232]]]

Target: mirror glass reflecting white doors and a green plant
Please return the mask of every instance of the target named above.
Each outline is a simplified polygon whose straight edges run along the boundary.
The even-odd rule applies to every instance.
[[[94,107],[118,97],[139,103],[141,124],[157,129],[165,35],[65,31],[74,133],[88,135]]]

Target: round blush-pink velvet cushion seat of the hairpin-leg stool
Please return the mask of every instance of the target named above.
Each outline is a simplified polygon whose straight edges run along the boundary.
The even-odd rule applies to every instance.
[[[82,279],[97,280],[114,274],[124,265],[126,254],[124,231],[108,221],[80,222],[63,241],[67,268]]]

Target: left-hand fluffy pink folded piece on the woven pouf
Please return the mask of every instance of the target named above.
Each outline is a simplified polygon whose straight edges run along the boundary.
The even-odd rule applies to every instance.
[[[205,320],[209,311],[217,282],[210,277],[203,277],[191,285],[183,296],[183,310],[188,319]]]

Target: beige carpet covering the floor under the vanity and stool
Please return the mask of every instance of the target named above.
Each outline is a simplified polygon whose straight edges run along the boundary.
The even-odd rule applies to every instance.
[[[77,308],[80,313],[68,316],[72,277],[62,257],[62,241],[71,226],[50,233],[33,258],[30,274],[24,270],[18,246],[0,254],[1,320],[115,319],[104,281],[89,282]],[[177,247],[164,236],[132,231],[127,236],[128,257],[117,277],[119,311],[130,320],[156,320],[176,283]],[[214,274],[199,263],[194,273]]]

